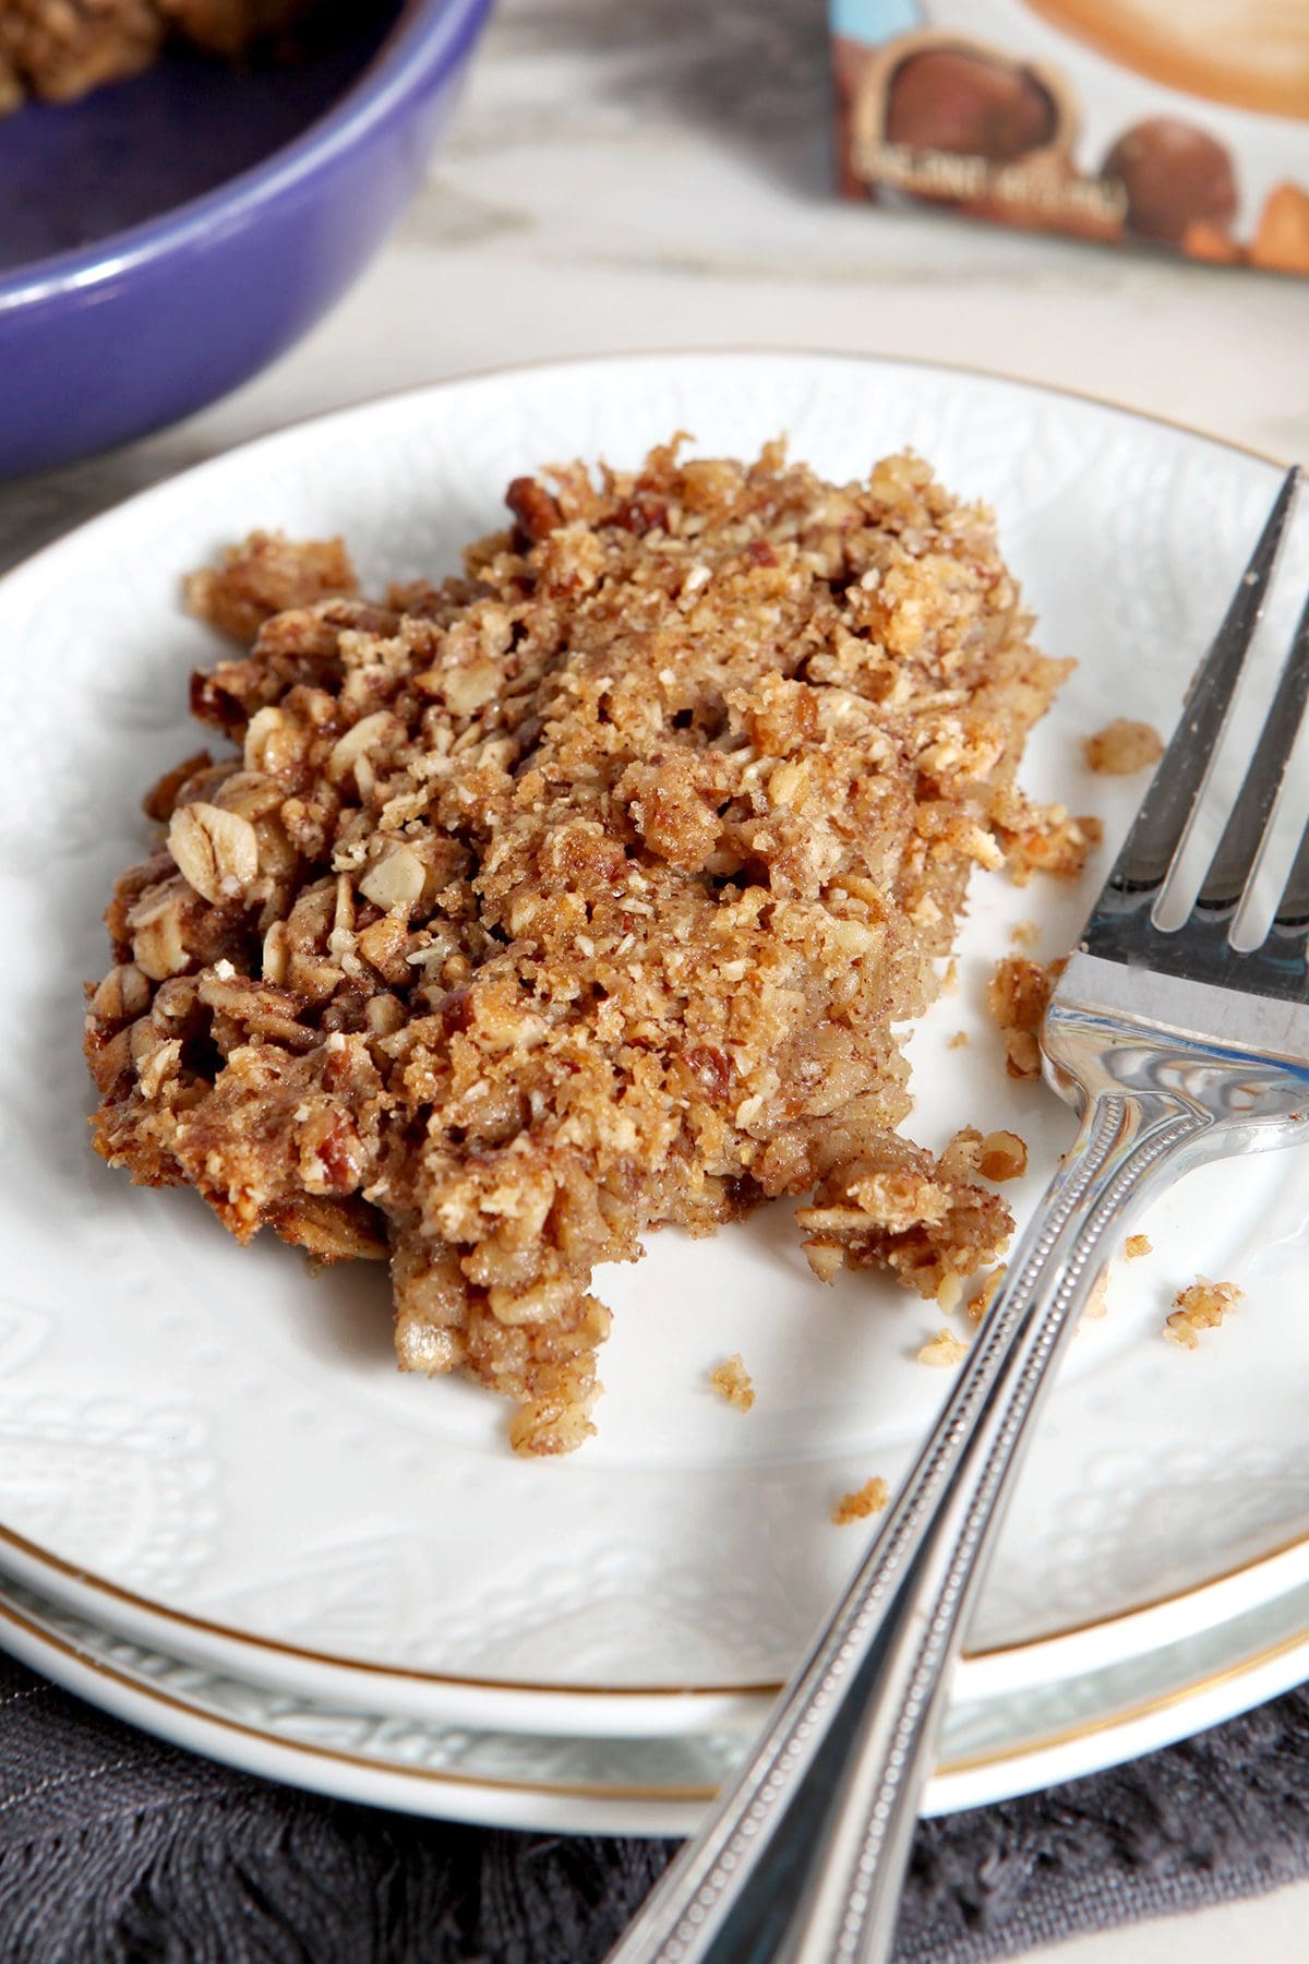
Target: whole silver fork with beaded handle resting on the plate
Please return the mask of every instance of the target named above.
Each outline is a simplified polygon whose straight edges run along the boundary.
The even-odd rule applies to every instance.
[[[1021,1449],[1109,1243],[1191,1167],[1309,1139],[1309,829],[1262,947],[1232,925],[1309,693],[1309,605],[1199,898],[1166,894],[1205,805],[1278,550],[1289,471],[1136,823],[1050,1000],[1046,1074],[1081,1114],[960,1379],[736,1785],[610,1964],[875,1964],[950,1665]]]

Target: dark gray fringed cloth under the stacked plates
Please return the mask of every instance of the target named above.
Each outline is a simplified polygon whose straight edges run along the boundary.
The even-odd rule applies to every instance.
[[[6,1964],[599,1964],[667,1842],[412,1821],[163,1746],[0,1656]],[[918,1830],[897,1964],[983,1964],[1309,1874],[1309,1687]]]

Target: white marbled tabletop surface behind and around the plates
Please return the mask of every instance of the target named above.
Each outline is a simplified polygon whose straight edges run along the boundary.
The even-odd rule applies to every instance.
[[[343,306],[179,430],[0,491],[0,556],[314,410],[610,348],[928,355],[1309,454],[1309,283],[842,206],[828,147],[818,0],[502,0],[444,157]],[[1042,1958],[1299,1964],[1307,1927],[1301,1885]]]

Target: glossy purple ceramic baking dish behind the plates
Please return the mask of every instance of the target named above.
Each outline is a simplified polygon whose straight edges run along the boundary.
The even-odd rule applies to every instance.
[[[302,69],[177,57],[0,120],[0,475],[175,422],[298,340],[422,179],[489,4],[375,4]]]

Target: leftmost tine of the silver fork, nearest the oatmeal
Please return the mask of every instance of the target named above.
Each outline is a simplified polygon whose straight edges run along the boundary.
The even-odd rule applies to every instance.
[[[1254,628],[1264,611],[1278,552],[1299,489],[1299,465],[1289,469],[1268,515],[1250,564],[1232,593],[1209,654],[1195,672],[1181,721],[1146,791],[1136,823],[1115,862],[1109,886],[1136,892],[1164,884],[1203,803],[1213,758],[1227,729]]]

